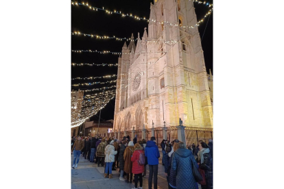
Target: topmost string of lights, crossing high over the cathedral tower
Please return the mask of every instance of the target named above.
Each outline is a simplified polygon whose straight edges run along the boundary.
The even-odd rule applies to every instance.
[[[189,0],[190,1],[190,0]],[[204,5],[208,5],[209,8],[210,7],[213,7],[213,4],[210,4],[210,3],[206,3],[206,1],[202,2],[202,1],[193,1],[193,2],[196,2],[196,3],[203,3]],[[87,6],[90,10],[94,10],[94,11],[98,11],[98,10],[102,10],[102,11],[105,11],[107,14],[120,14],[121,16],[128,16],[130,18],[134,18],[136,20],[142,20],[142,21],[147,21],[147,22],[154,22],[154,23],[159,23],[161,25],[163,24],[169,24],[171,26],[181,26],[181,27],[184,27],[184,28],[195,28],[197,26],[199,26],[199,23],[202,23],[204,18],[206,18],[206,16],[208,16],[209,14],[211,14],[211,12],[213,11],[213,8],[211,8],[211,10],[209,10],[209,12],[200,20],[198,21],[198,23],[196,23],[196,25],[191,25],[191,26],[188,26],[188,25],[180,25],[179,23],[169,23],[167,21],[163,21],[163,22],[160,22],[160,21],[157,21],[157,20],[154,20],[154,19],[147,19],[145,17],[139,17],[139,16],[133,16],[132,14],[123,14],[121,13],[121,11],[110,11],[110,10],[105,10],[104,7],[103,8],[97,8],[97,7],[93,7],[91,5],[88,5],[88,3],[78,3],[78,2],[74,2],[74,1],[71,1],[71,5],[84,5],[84,6]]]

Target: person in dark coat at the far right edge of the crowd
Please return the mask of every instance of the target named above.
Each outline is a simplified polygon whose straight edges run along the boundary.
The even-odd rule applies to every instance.
[[[205,142],[200,144],[200,152],[198,156],[199,167],[205,172],[206,187],[202,186],[202,189],[211,189],[213,188],[213,159],[210,155],[210,149]]]

